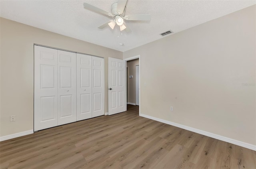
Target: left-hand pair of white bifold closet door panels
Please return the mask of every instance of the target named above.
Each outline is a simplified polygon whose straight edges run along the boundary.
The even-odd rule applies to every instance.
[[[76,121],[76,53],[34,45],[34,131]]]

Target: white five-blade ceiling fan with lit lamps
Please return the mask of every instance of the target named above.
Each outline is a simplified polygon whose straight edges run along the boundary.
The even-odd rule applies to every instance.
[[[98,12],[100,14],[104,14],[107,16],[113,17],[112,20],[109,20],[108,22],[102,24],[99,26],[99,29],[103,29],[106,26],[110,26],[110,28],[114,29],[116,25],[120,27],[120,31],[125,30],[126,32],[131,32],[131,29],[128,28],[124,20],[127,21],[149,21],[151,19],[150,14],[137,14],[137,15],[125,15],[126,12],[126,2],[127,0],[118,0],[118,2],[115,2],[111,5],[111,12],[107,12],[105,10],[102,10],[100,8],[97,8],[96,6],[90,5],[86,2],[84,2],[84,8],[88,10],[92,10],[94,12]]]

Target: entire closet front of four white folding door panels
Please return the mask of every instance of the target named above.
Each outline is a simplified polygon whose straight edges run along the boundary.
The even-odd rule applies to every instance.
[[[104,59],[34,45],[34,131],[104,115]]]

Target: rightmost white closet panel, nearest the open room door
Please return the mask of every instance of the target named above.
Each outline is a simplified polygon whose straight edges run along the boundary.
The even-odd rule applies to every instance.
[[[104,115],[104,59],[92,57],[92,117]]]

